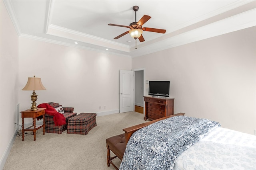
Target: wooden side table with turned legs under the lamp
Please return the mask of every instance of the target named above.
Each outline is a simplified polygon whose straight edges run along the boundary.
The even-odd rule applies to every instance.
[[[22,141],[24,141],[24,133],[25,131],[33,131],[34,134],[34,141],[36,141],[36,130],[40,129],[41,127],[43,127],[43,134],[44,134],[44,113],[45,113],[45,109],[46,108],[38,108],[37,110],[24,110],[21,111],[21,117],[22,117]],[[43,125],[36,127],[36,117],[38,116],[43,116]],[[33,125],[24,129],[24,118],[28,118],[28,117],[32,117],[33,118]],[[32,129],[30,129],[31,127],[34,127]]]

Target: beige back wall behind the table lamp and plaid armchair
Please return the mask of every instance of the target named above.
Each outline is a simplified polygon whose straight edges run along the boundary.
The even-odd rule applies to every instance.
[[[130,57],[22,37],[19,42],[19,89],[28,77],[40,77],[46,90],[36,91],[37,104],[57,102],[77,113],[119,112],[119,70],[131,70]],[[31,107],[31,94],[19,90],[20,109]]]

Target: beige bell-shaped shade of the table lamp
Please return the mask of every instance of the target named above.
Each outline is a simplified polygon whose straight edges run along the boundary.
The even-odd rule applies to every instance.
[[[28,82],[22,90],[46,90],[41,82],[41,78],[28,77]]]

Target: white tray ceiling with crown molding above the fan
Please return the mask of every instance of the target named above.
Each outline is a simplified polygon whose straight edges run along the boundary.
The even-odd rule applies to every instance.
[[[104,53],[137,57],[256,25],[256,1],[241,0],[4,0],[18,35]],[[140,43],[130,30],[108,23],[128,25],[152,18],[143,27]],[[74,42],[78,44],[74,44]],[[128,42],[130,41],[130,42]],[[106,51],[106,49],[109,49]]]

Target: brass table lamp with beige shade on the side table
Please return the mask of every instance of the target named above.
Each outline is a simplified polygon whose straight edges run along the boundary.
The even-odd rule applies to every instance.
[[[38,78],[36,76],[28,77],[28,82],[22,90],[33,90],[33,93],[31,95],[32,107],[30,108],[31,110],[37,110],[37,106],[36,106],[37,95],[35,93],[35,90],[46,90],[46,88],[43,86],[41,82],[41,78]]]

